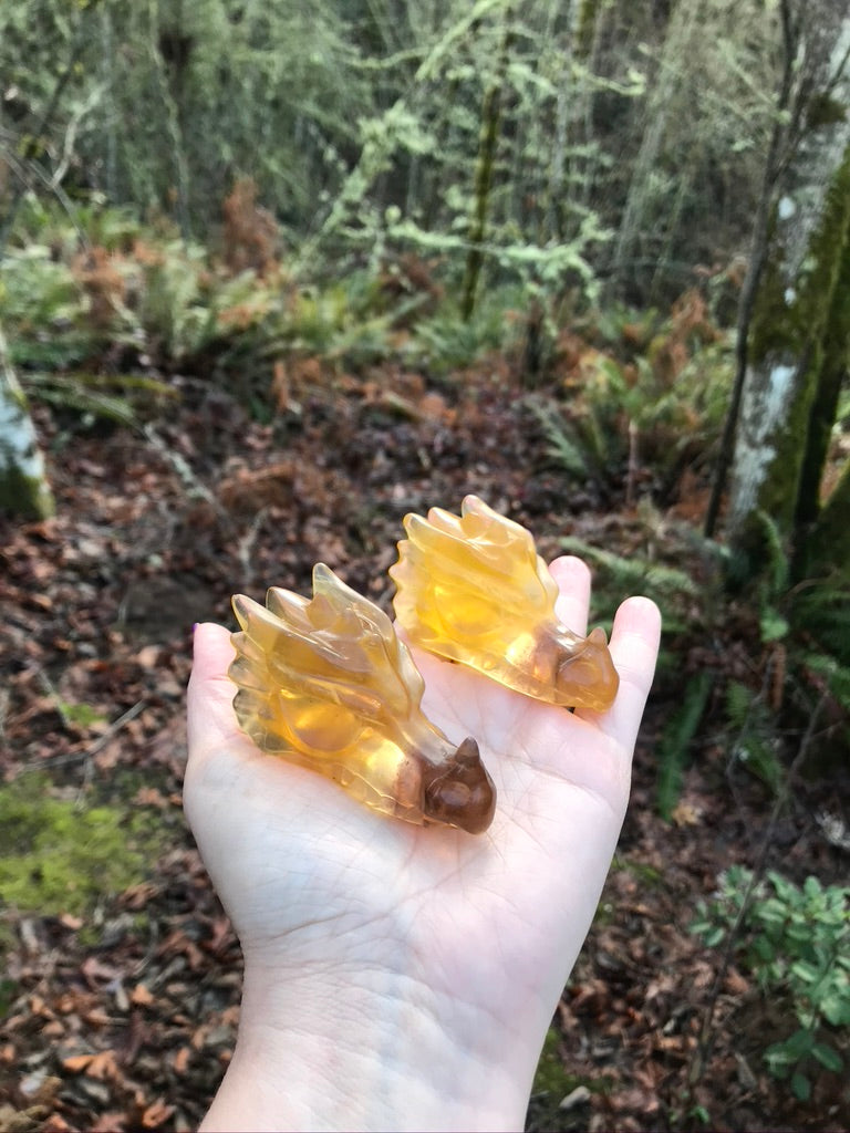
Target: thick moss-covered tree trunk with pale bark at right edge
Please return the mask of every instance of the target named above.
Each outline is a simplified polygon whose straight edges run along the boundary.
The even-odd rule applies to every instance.
[[[833,35],[833,46],[850,42],[850,15]],[[746,576],[766,565],[766,522],[790,555],[817,508],[824,415],[834,414],[835,366],[847,349],[841,284],[850,240],[850,79],[835,83],[830,62],[826,54],[823,87],[808,100],[808,131],[773,208],[746,340],[726,517]],[[828,91],[832,107],[819,121],[811,113],[818,90]]]

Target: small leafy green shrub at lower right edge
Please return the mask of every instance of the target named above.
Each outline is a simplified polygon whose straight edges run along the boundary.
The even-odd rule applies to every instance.
[[[713,902],[699,906],[691,931],[717,947],[737,930],[740,964],[763,994],[790,1002],[798,1029],[764,1051],[770,1072],[805,1101],[816,1064],[843,1072],[834,1031],[850,1028],[850,887],[808,877],[797,886],[775,871],[754,885],[736,866]]]

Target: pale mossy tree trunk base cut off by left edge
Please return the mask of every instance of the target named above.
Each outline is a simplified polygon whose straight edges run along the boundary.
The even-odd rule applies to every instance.
[[[0,509],[25,519],[53,514],[53,495],[0,327]]]

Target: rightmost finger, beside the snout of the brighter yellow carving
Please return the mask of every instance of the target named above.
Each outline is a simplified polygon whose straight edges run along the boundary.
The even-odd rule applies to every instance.
[[[661,613],[649,598],[628,598],[617,611],[611,633],[611,656],[620,674],[620,688],[606,713],[579,710],[601,731],[627,750],[637,739],[646,698],[655,674],[661,640]]]

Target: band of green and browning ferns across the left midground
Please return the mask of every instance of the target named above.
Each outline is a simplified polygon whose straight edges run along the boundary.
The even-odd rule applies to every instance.
[[[173,395],[139,367],[236,376],[246,400],[262,400],[270,359],[287,353],[354,368],[397,356],[441,377],[503,346],[512,333],[505,304],[520,299],[516,288],[494,290],[465,322],[440,301],[427,265],[409,286],[396,286],[383,264],[296,286],[274,264],[263,275],[232,274],[199,245],[126,213],[76,216],[107,242],[92,244],[56,210],[26,212],[22,235],[34,242],[7,252],[0,318],[29,394],[88,420],[135,426]],[[118,351],[125,373],[103,365]]]

